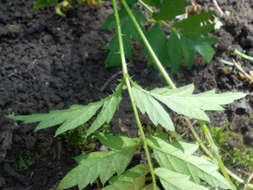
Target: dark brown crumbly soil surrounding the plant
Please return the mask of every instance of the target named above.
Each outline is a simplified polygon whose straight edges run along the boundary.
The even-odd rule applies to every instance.
[[[120,71],[104,66],[108,52],[103,47],[111,32],[101,30],[100,25],[111,12],[110,5],[74,5],[62,19],[52,7],[33,10],[33,2],[0,1],[0,189],[4,190],[55,189],[75,166],[72,158],[76,155],[66,148],[63,136],[53,137],[55,128],[34,132],[35,125],[8,120],[9,113],[43,113],[87,104],[111,93],[121,77],[101,90]],[[216,11],[211,1],[206,2],[205,6]],[[218,92],[248,92],[246,98],[227,106],[225,113],[210,117],[216,126],[231,122],[231,128],[252,146],[253,83],[239,77],[236,68],[225,69],[220,59],[233,58],[246,72],[253,70],[252,62],[232,53],[238,49],[253,56],[253,4],[243,0],[219,3],[223,10],[231,11],[231,16],[223,19],[222,29],[213,32],[220,39],[214,45],[217,53],[213,61],[196,63],[192,70],[184,69],[173,78],[178,86],[194,82],[196,92],[213,88]],[[165,85],[155,70],[146,67],[145,60],[135,58],[132,62],[130,73],[141,85]],[[122,102],[112,127],[117,130],[122,121],[128,135],[134,136],[137,131],[127,101]]]

